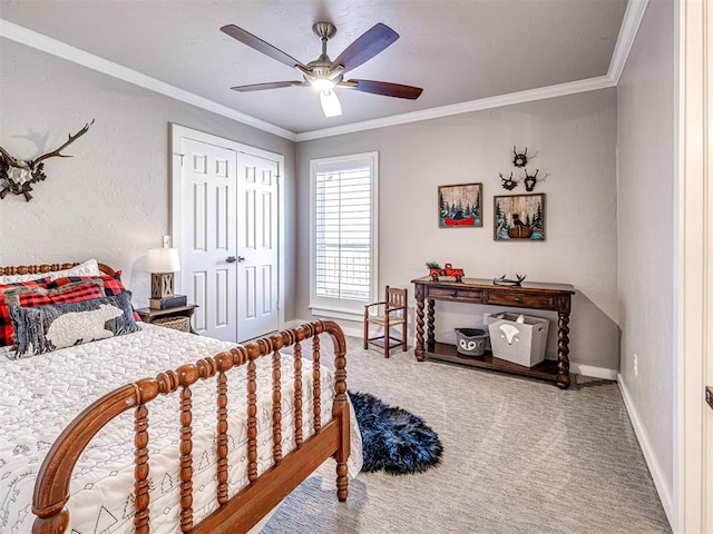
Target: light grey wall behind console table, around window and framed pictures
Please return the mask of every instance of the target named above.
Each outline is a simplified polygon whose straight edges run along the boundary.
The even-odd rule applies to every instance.
[[[498,172],[514,169],[514,145],[528,147],[528,170],[539,169],[533,192],[546,194],[545,243],[492,239],[492,197],[509,194]],[[450,261],[476,278],[519,273],[531,281],[573,284],[570,359],[618,369],[615,146],[614,89],[301,142],[297,279],[309,279],[310,159],[378,150],[381,287],[412,293],[410,281],[427,274],[429,260]],[[478,181],[484,185],[484,227],[439,228],[438,186]],[[526,191],[520,184],[510,192]],[[305,283],[297,290],[300,317],[310,317],[307,306]],[[489,309],[437,307],[439,339],[452,335],[453,327],[481,322]],[[554,357],[556,328],[550,330]]]

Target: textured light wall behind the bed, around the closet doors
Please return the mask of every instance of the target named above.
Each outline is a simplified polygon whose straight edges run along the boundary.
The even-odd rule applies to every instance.
[[[46,162],[33,199],[0,201],[0,265],[96,257],[124,270],[134,304],[148,301],[144,257],[169,234],[169,123],[285,156],[286,316],[294,298],[295,144],[69,61],[0,39],[0,145],[32,158],[96,119]],[[227,88],[226,88],[227,90]]]

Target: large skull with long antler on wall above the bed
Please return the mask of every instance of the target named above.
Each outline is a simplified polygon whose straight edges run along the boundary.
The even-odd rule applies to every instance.
[[[74,136],[70,134],[69,139],[61,147],[30,160],[14,159],[4,148],[0,147],[0,199],[3,199],[8,192],[12,192],[13,195],[23,195],[25,200],[29,202],[32,199],[32,195],[30,195],[32,184],[47,178],[43,161],[55,156],[71,158],[71,156],[60,152],[84,136],[91,125],[94,125],[94,119]]]

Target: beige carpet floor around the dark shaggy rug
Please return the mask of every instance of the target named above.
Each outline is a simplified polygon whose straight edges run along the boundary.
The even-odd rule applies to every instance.
[[[330,461],[263,534],[671,532],[615,383],[576,377],[560,390],[418,363],[413,349],[384,359],[360,339],[348,347],[349,388],[423,417],[442,462],[417,475],[361,473],[339,503]]]

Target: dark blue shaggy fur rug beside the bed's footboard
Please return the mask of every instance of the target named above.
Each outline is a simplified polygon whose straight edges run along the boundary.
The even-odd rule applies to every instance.
[[[392,475],[422,473],[440,461],[441,442],[423,419],[368,393],[348,392],[364,451],[362,471]]]

